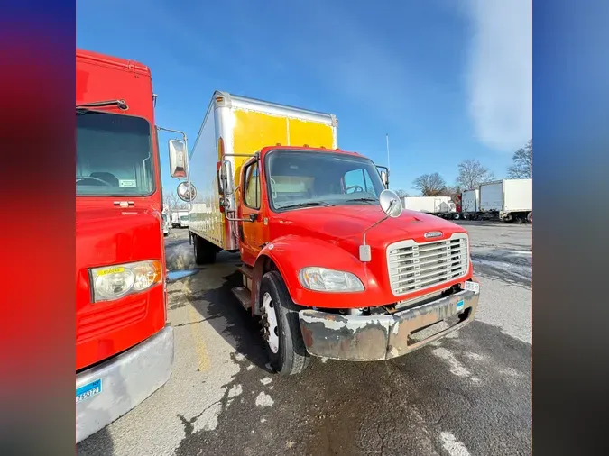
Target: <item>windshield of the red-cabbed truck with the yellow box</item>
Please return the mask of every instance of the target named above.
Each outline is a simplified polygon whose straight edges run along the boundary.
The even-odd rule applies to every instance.
[[[371,160],[341,153],[276,150],[266,156],[273,209],[377,205],[383,182]]]

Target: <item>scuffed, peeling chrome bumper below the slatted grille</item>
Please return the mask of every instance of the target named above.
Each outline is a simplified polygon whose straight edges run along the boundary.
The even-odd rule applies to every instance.
[[[311,355],[335,360],[390,360],[457,331],[474,319],[479,293],[459,291],[391,315],[337,315],[300,310],[300,330]],[[458,323],[420,341],[411,336],[458,315]]]

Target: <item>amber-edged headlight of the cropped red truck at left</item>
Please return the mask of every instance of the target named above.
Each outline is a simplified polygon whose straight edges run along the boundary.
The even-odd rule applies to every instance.
[[[109,301],[130,293],[137,293],[161,282],[161,261],[134,263],[91,269],[93,301]]]

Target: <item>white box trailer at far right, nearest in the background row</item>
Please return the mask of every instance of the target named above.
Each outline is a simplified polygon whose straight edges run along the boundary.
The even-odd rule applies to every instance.
[[[533,221],[533,179],[503,179],[480,185],[480,213],[504,222]]]

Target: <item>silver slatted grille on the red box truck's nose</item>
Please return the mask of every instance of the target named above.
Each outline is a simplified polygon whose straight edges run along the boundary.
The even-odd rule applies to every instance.
[[[465,276],[469,267],[467,234],[455,233],[434,242],[395,242],[387,248],[387,266],[395,296]]]

